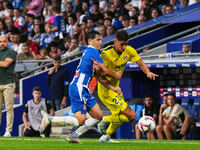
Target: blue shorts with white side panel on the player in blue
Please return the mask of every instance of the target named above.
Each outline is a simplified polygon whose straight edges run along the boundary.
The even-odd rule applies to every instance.
[[[69,98],[72,113],[81,111],[82,114],[86,114],[97,103],[96,98],[89,93],[87,88],[76,84],[70,84]]]

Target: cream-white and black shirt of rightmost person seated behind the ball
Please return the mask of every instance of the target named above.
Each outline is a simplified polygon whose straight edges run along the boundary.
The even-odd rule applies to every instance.
[[[190,117],[187,110],[185,110],[185,108],[183,108],[179,104],[175,104],[173,109],[171,107],[167,107],[167,109],[164,110],[162,115],[165,116],[166,118],[175,117],[173,123],[177,127],[182,126],[185,117]]]

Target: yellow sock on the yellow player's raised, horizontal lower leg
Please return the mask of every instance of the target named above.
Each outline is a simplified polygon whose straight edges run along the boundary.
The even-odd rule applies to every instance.
[[[129,120],[123,114],[115,114],[115,115],[105,116],[104,117],[104,122],[120,123],[120,122],[129,122]]]

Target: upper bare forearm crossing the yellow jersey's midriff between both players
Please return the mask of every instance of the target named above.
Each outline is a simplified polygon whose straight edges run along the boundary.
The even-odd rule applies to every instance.
[[[113,73],[103,63],[100,64],[98,61],[95,61],[93,58],[91,58],[91,60],[93,61],[93,68],[95,70],[97,71],[101,70],[104,75],[112,76],[118,80],[121,79],[122,77],[121,72]]]

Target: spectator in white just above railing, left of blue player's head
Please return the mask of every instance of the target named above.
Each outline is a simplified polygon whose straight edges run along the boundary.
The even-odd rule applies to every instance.
[[[71,39],[71,42],[70,42],[70,45],[69,45],[69,49],[67,50],[66,53],[64,53],[62,55],[62,57],[70,57],[74,54],[77,54],[79,53],[81,50],[80,48],[78,47],[78,39],[76,38],[72,38]]]

